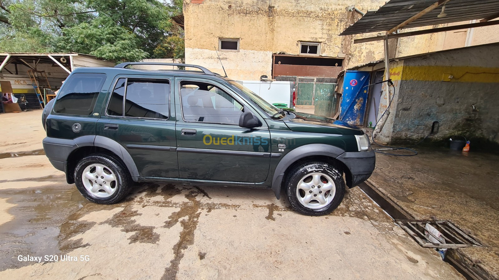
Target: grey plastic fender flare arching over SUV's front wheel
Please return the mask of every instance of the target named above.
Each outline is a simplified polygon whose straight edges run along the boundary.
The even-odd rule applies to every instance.
[[[328,144],[308,144],[291,150],[284,155],[275,167],[271,186],[275,197],[277,199],[280,197],[281,182],[284,172],[286,172],[286,169],[296,160],[311,155],[325,155],[336,158],[344,152],[345,150],[342,148]]]

